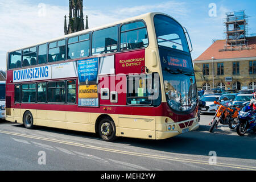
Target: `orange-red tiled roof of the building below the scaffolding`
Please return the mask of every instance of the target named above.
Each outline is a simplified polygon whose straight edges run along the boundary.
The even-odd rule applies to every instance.
[[[214,59],[256,57],[256,36],[247,38],[247,40],[249,49],[240,51],[219,51],[220,49],[224,49],[226,40],[217,40],[194,61],[211,60],[212,57]]]

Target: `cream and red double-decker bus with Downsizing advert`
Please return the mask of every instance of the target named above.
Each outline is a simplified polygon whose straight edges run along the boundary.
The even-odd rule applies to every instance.
[[[147,13],[9,51],[6,120],[98,133],[107,141],[195,130],[186,34],[171,16]]]

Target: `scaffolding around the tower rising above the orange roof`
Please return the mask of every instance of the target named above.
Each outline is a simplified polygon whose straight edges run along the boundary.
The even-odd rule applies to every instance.
[[[234,51],[248,49],[248,18],[243,11],[226,13],[224,28],[226,42],[220,51]]]

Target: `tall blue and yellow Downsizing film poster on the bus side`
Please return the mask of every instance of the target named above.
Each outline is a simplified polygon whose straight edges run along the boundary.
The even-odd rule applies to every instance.
[[[77,62],[79,106],[98,107],[98,57]]]

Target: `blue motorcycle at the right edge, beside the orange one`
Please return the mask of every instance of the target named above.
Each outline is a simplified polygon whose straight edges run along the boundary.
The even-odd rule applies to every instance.
[[[243,136],[246,132],[256,132],[256,115],[250,106],[245,106],[238,114],[237,134]]]

